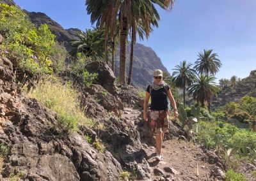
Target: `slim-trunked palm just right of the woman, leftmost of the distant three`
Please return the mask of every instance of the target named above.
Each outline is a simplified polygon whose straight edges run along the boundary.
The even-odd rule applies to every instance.
[[[180,62],[180,65],[175,66],[173,69],[173,77],[175,80],[175,85],[177,87],[183,88],[183,103],[185,106],[185,92],[186,87],[193,83],[193,80],[196,75],[196,71],[191,68],[192,64],[186,61]]]

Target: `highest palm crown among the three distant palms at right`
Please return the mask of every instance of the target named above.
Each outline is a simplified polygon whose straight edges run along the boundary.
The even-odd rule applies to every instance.
[[[215,75],[221,67],[220,59],[217,58],[218,54],[212,54],[212,50],[204,50],[204,53],[198,54],[198,59],[195,62],[195,69],[200,74]]]

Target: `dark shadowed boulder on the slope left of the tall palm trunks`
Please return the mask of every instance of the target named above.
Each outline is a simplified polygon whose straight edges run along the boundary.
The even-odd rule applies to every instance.
[[[88,62],[84,66],[84,68],[89,73],[98,73],[98,76],[95,79],[94,83],[102,85],[104,89],[106,89],[109,93],[113,94],[114,96],[117,94],[116,87],[114,84],[115,75],[105,62],[102,62],[102,61]]]

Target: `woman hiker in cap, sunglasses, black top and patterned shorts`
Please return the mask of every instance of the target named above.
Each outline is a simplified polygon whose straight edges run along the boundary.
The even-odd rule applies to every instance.
[[[151,127],[152,133],[156,135],[156,159],[163,159],[162,155],[162,143],[164,139],[164,133],[167,131],[168,124],[168,100],[173,107],[175,118],[178,117],[179,113],[175,100],[170,91],[170,87],[163,81],[163,71],[156,69],[154,71],[154,81],[152,85],[148,85],[147,92],[143,105],[143,119],[148,120],[147,108],[148,100],[151,96]]]

